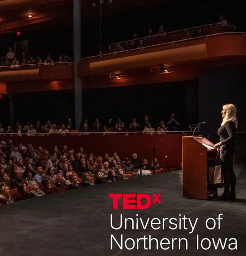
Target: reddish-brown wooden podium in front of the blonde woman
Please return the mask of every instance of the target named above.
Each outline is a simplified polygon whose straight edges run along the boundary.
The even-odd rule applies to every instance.
[[[203,144],[204,143],[204,144]],[[215,167],[217,149],[204,136],[182,137],[183,197],[210,199],[217,196],[217,185],[210,184],[209,168]]]

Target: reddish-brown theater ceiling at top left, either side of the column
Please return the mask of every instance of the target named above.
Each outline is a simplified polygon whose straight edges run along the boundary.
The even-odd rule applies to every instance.
[[[81,0],[82,19],[165,2],[163,0]],[[72,24],[73,0],[0,0],[0,33]]]

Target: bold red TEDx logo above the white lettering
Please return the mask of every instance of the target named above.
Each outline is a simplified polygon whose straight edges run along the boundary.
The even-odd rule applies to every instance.
[[[154,200],[148,194],[109,194],[109,198],[113,198],[113,209],[118,209],[118,199],[123,199],[123,209],[148,209],[152,204],[161,204],[160,195],[152,194]],[[146,202],[143,202],[145,199]],[[134,205],[133,205],[134,204]]]

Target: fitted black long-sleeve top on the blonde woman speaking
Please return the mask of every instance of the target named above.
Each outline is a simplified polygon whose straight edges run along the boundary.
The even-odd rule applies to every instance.
[[[236,130],[237,129],[235,122],[227,121],[224,125],[222,125],[218,130],[221,145],[230,144],[232,146],[235,146]]]

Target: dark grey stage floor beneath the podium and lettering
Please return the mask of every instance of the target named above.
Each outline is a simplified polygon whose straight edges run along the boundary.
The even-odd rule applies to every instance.
[[[224,202],[218,200],[205,201],[185,199],[182,196],[182,173],[174,171],[170,173],[145,176],[137,179],[123,180],[116,183],[91,186],[77,190],[67,191],[56,195],[43,196],[41,198],[30,199],[11,205],[0,207],[1,225],[0,225],[0,254],[4,256],[37,256],[37,255],[100,255],[100,256],[147,256],[147,255],[245,255],[245,230],[246,230],[246,167],[235,165],[237,175],[237,199],[234,202]],[[152,204],[147,210],[123,210],[122,201],[119,200],[119,209],[112,209],[112,199],[108,198],[109,193],[147,193],[158,194],[161,204]],[[123,218],[142,217],[143,222],[147,218],[179,218],[184,215],[191,219],[194,224],[198,218],[194,232],[190,225],[188,230],[171,230],[168,223],[161,228],[153,230],[150,225],[146,230],[127,230],[123,227],[120,230],[113,230],[110,217],[113,214],[113,226],[119,225],[120,215]],[[218,229],[218,220],[214,230],[208,230],[205,221],[209,217],[216,219],[219,214],[222,215],[220,221],[220,230]],[[149,222],[150,222],[149,221]],[[157,221],[155,221],[157,222]],[[140,224],[140,220],[139,220]],[[157,227],[158,225],[155,225]],[[209,222],[212,226],[212,222]],[[113,240],[111,250],[111,235],[120,243],[120,236],[123,234],[124,240],[131,237],[133,239],[141,238],[144,235],[156,238],[159,241],[163,238],[186,238],[188,241],[188,250],[185,249],[185,242],[181,242],[180,249],[178,240],[174,241],[172,249],[156,250],[156,242],[152,241],[152,249],[144,250],[143,241],[140,242],[139,250],[137,245],[133,250],[119,249],[119,246]],[[196,249],[197,236],[199,235],[199,247],[201,240],[207,238],[211,241],[209,250]],[[212,238],[217,244],[221,238],[224,244],[225,239],[237,239],[237,250],[229,250],[226,242],[225,249],[214,249]],[[165,240],[166,242],[167,240]],[[171,241],[172,242],[172,241]],[[131,242],[127,244],[132,246]],[[234,248],[231,245],[231,249]],[[147,243],[148,248],[149,243]],[[204,248],[209,246],[208,241],[203,242]],[[164,245],[163,247],[168,247]],[[149,248],[148,248],[149,249]]]

